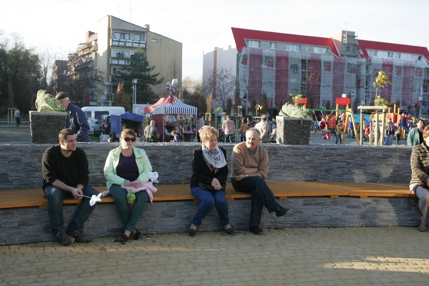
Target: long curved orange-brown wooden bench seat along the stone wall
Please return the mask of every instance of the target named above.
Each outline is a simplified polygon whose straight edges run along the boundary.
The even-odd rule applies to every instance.
[[[408,184],[392,183],[330,183],[330,182],[268,182],[274,196],[278,199],[290,197],[330,197],[340,196],[359,197],[415,197],[410,194]],[[190,193],[189,184],[156,185],[158,191],[154,195],[154,201],[183,201],[196,200]],[[94,187],[98,191],[106,190],[105,186]],[[231,183],[227,184],[226,197],[228,201],[250,198],[249,193],[237,192]],[[67,198],[64,204],[80,203],[81,200]],[[113,197],[102,197],[100,203],[113,203]],[[38,206],[47,207],[47,199],[43,197],[41,188],[1,190],[0,208],[15,208]]]

